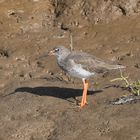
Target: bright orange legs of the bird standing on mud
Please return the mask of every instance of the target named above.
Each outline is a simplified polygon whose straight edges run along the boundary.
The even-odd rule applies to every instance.
[[[87,103],[87,90],[88,90],[88,81],[83,79],[83,95],[80,104],[81,108]]]

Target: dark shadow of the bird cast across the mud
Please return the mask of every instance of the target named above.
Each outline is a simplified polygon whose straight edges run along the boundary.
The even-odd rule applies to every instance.
[[[15,93],[31,93],[39,96],[53,96],[56,98],[61,98],[67,100],[68,98],[75,98],[77,96],[82,96],[82,89],[73,89],[73,88],[63,88],[63,87],[20,87],[17,88],[14,92],[8,94]],[[100,93],[102,90],[98,91],[88,91],[88,95]]]

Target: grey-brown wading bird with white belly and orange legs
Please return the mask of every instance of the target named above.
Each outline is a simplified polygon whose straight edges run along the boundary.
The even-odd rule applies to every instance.
[[[49,52],[49,55],[55,55],[58,66],[71,76],[81,78],[83,81],[83,95],[80,103],[80,107],[83,107],[87,103],[87,90],[88,80],[90,77],[104,73],[112,69],[125,68],[122,65],[114,65],[93,55],[70,51],[64,46],[55,47]]]

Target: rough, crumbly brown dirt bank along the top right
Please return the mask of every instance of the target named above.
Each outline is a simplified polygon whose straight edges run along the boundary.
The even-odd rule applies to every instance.
[[[52,0],[57,25],[61,28],[108,23],[120,17],[139,15],[139,1],[117,0]],[[55,24],[56,24],[55,23]]]

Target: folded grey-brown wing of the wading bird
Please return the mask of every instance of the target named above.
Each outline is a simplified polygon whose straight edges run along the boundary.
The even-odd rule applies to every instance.
[[[118,69],[119,65],[105,62],[95,56],[82,52],[73,52],[66,59],[80,64],[82,68],[95,73],[103,73],[111,69]]]

